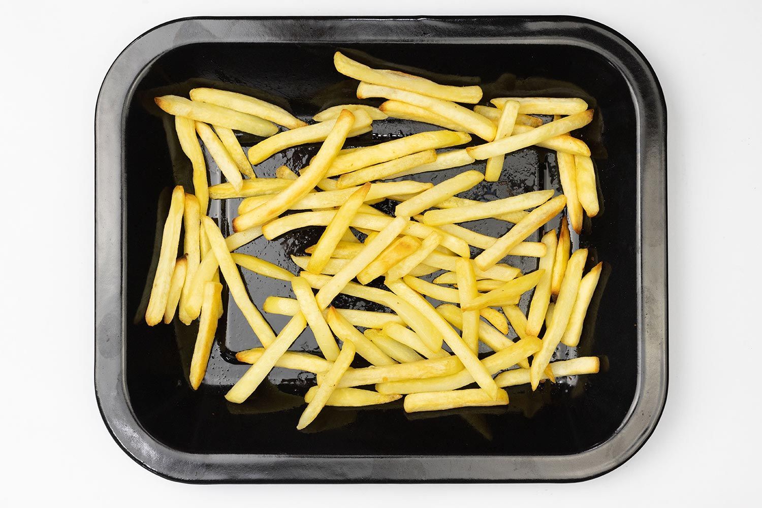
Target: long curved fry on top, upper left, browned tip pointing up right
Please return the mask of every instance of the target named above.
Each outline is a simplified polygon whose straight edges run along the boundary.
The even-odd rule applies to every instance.
[[[274,219],[282,212],[285,212],[292,203],[296,203],[296,201],[306,196],[310,190],[315,188],[315,185],[325,177],[325,171],[328,171],[331,162],[336,157],[338,151],[341,150],[341,145],[344,145],[347,133],[349,133],[354,120],[354,115],[349,111],[341,113],[335,121],[331,120],[331,129],[327,136],[325,136],[325,142],[320,146],[309,168],[302,171],[299,178],[272,200],[233,219],[233,229],[239,232],[264,224],[264,222]],[[309,129],[309,127],[301,127],[300,129]],[[287,133],[294,133],[297,130],[299,129],[287,131]]]

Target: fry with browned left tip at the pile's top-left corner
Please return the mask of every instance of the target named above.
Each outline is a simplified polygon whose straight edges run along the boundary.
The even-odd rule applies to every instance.
[[[278,132],[277,127],[267,120],[226,107],[219,107],[215,104],[189,101],[177,95],[154,97],[154,101],[158,107],[175,117],[185,117],[197,122],[221,125],[256,136],[272,136]]]

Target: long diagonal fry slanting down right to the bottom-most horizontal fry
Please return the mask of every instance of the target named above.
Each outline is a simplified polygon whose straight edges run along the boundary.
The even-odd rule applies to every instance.
[[[437,330],[442,334],[447,346],[449,346],[450,350],[452,350],[458,359],[460,359],[463,366],[471,372],[471,375],[479,386],[484,388],[491,398],[497,398],[497,385],[495,385],[495,381],[492,379],[487,369],[485,369],[482,363],[479,362],[479,358],[477,358],[476,354],[469,348],[468,344],[466,344],[463,339],[455,333],[453,328],[450,327],[450,324],[448,324],[447,321],[434,310],[434,307],[401,280],[392,282],[386,281],[386,286],[400,298],[405,299],[410,305],[418,309],[425,318],[431,321],[431,324],[434,324],[434,326],[437,327]],[[408,363],[406,365],[411,364]]]

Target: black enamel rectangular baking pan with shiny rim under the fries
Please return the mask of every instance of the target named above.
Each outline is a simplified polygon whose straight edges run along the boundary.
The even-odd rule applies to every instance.
[[[302,395],[314,382],[307,375],[275,369],[245,404],[223,398],[246,368],[234,353],[258,345],[231,304],[206,379],[191,390],[197,325],[148,327],[140,319],[167,190],[192,188],[171,119],[152,97],[214,86],[274,101],[306,119],[357,101],[357,83],[333,68],[339,48],[371,65],[427,69],[445,83],[482,85],[485,100],[572,96],[595,108],[593,123],[575,135],[591,146],[603,206],[574,241],[606,270],[580,346],[558,355],[600,356],[600,373],[536,392],[509,388],[511,404],[499,409],[406,415],[399,405],[327,407],[297,431]],[[353,142],[427,129],[389,120]],[[110,68],[95,138],[95,391],[114,439],[150,471],[189,482],[579,481],[621,465],[652,433],[668,372],[666,111],[651,66],[610,28],[569,17],[171,21],[136,39]],[[241,138],[244,145],[255,141]],[[258,166],[258,174],[273,176],[283,163],[298,170],[314,153],[314,146],[292,149]],[[209,162],[212,181],[219,181]],[[418,177],[437,182],[452,174]],[[501,181],[469,197],[539,188],[558,189],[558,174],[554,153],[533,147],[509,155]],[[210,210],[223,230],[235,206],[229,200]],[[501,235],[507,226],[484,228]],[[289,255],[318,234],[303,228],[275,241],[259,238],[242,251],[296,272]],[[524,270],[536,264],[515,262]],[[245,280],[257,305],[272,294],[290,296],[286,283],[251,273]],[[338,302],[345,305],[360,302]],[[266,317],[275,330],[285,322]],[[306,331],[294,349],[311,350],[313,343]]]

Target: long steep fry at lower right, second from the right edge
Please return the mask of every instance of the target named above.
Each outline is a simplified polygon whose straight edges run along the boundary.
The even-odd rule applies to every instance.
[[[561,342],[561,337],[563,337],[571,316],[571,309],[574,308],[574,302],[577,299],[577,291],[582,279],[582,270],[587,259],[587,249],[579,249],[574,254],[571,254],[569,258],[564,280],[561,283],[561,291],[559,292],[558,299],[555,300],[553,319],[543,336],[543,349],[534,355],[532,366],[530,366],[532,390],[535,390],[537,385],[539,385],[540,377],[550,363],[550,358],[555,348]]]

